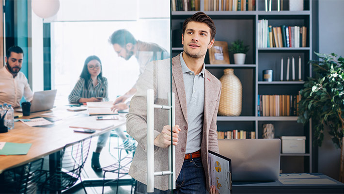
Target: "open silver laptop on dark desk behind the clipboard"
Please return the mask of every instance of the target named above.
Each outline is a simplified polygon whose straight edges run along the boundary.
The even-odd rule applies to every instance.
[[[272,181],[280,175],[280,139],[219,139],[220,155],[232,160],[234,181]]]

